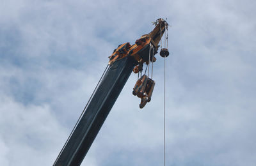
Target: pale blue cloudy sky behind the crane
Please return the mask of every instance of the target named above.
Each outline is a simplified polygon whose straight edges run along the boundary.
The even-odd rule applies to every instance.
[[[1,0],[0,165],[52,165],[108,56],[168,18],[166,165],[255,165],[256,1]],[[125,84],[81,165],[163,165],[164,59]]]

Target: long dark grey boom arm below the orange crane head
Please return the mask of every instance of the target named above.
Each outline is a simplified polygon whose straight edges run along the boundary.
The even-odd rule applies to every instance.
[[[109,67],[54,166],[81,164],[135,65],[127,56]]]

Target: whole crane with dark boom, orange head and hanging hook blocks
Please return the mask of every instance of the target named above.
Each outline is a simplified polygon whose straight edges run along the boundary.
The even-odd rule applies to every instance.
[[[56,158],[54,166],[81,165],[132,71],[141,76],[140,79],[138,77],[132,91],[132,94],[141,98],[140,108],[150,102],[155,82],[152,77],[150,79],[149,74],[141,74],[143,64],[148,66],[156,61],[159,42],[164,31],[168,30],[168,23],[164,19],[157,19],[153,23],[155,27],[150,33],[142,35],[133,45],[128,42],[119,45],[109,56],[108,66]],[[161,48],[160,55],[167,57],[168,49]]]

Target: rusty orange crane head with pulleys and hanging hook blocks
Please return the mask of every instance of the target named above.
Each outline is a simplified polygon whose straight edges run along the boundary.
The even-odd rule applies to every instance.
[[[152,92],[155,86],[154,80],[149,78],[149,65],[152,63],[153,72],[153,63],[156,61],[155,55],[157,50],[161,47],[160,55],[162,57],[167,57],[169,55],[168,49],[162,48],[161,38],[164,32],[168,31],[168,23],[164,19],[157,19],[156,22],[153,22],[156,26],[153,31],[148,34],[142,35],[138,40],[135,41],[134,45],[130,43],[124,43],[119,45],[111,56],[109,56],[109,65],[113,64],[115,61],[118,61],[124,57],[131,56],[133,57],[137,64],[134,67],[133,72],[138,73],[138,81],[136,82],[132,94],[141,98],[140,108],[142,109],[147,102],[150,102]],[[164,34],[164,47],[165,43],[168,40],[168,34]],[[161,42],[161,45],[159,45]],[[168,47],[168,41],[167,41]],[[143,70],[143,64],[147,64],[148,75],[146,75],[147,68],[145,69],[145,75],[140,75]]]

